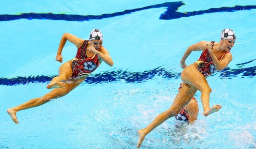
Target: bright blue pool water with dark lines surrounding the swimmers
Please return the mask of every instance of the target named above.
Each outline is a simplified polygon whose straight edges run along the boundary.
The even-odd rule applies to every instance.
[[[237,36],[233,60],[224,71],[208,77],[213,90],[210,105],[223,108],[202,116],[197,92],[196,123],[180,124],[170,118],[146,136],[142,148],[256,147],[255,1],[62,0],[1,5],[0,148],[136,148],[137,130],[172,104],[187,47],[202,40],[218,42],[224,28]],[[61,65],[55,56],[62,34],[88,39],[93,28],[102,31],[114,66],[102,64],[66,96],[19,111],[19,124],[14,124],[6,109],[49,92],[46,85]],[[193,52],[186,63],[200,54]],[[67,42],[62,55],[63,61],[74,58],[75,46]]]

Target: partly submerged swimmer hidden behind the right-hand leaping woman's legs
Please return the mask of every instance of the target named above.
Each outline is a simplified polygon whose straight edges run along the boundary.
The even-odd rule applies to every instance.
[[[180,87],[178,88],[178,91],[181,90],[184,83],[180,83]],[[181,109],[180,113],[175,115],[175,118],[177,120],[188,122],[189,124],[193,123],[197,120],[198,115],[198,103],[195,97],[192,97],[192,99],[189,101],[189,103]]]

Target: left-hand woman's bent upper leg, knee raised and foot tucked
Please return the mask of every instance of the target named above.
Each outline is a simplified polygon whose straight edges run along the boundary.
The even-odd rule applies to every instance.
[[[51,83],[49,83],[49,85],[46,86],[46,88],[47,89],[62,88],[63,86],[65,86],[66,81],[69,80],[71,75],[72,75],[72,68],[71,68],[70,61],[68,61],[60,66],[59,75],[57,77],[54,77]]]

